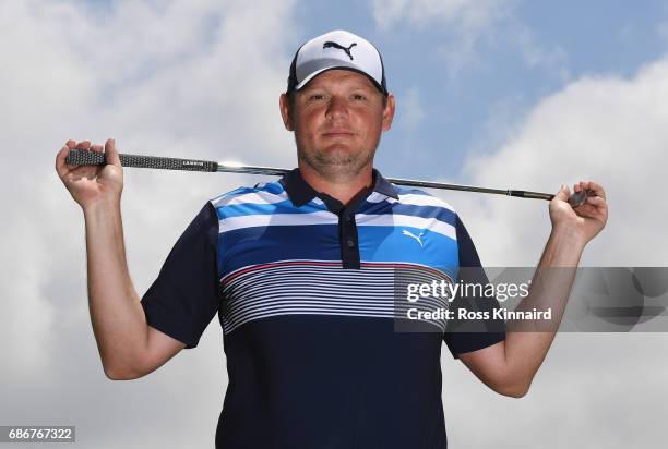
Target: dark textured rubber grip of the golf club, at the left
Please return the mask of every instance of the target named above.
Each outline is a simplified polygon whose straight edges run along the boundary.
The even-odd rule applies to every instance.
[[[163,170],[217,171],[218,162],[210,160],[179,159],[157,156],[119,154],[122,167],[154,168]],[[70,166],[104,166],[105,154],[87,149],[72,149],[65,158]]]

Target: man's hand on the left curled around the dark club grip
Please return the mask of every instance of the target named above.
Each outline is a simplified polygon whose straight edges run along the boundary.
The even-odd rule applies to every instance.
[[[123,190],[123,169],[112,138],[105,143],[104,166],[68,166],[65,157],[71,149],[85,149],[102,153],[102,145],[91,145],[90,141],[75,143],[68,141],[56,156],[56,171],[76,203],[85,209],[98,201],[120,203]]]

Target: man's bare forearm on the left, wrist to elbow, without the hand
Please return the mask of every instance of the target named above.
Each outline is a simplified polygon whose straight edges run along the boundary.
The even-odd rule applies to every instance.
[[[128,271],[120,204],[95,203],[84,217],[93,332],[105,373],[122,376],[145,347],[148,329]]]

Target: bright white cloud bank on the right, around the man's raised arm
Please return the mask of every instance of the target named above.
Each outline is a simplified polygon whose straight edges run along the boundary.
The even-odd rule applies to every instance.
[[[666,266],[667,105],[668,57],[631,78],[574,81],[528,111],[497,151],[472,155],[467,181],[542,192],[578,180],[598,181],[606,189],[610,217],[586,247],[582,264]],[[439,195],[458,209],[485,265],[536,265],[550,231],[546,202]],[[532,391],[521,400],[496,396],[445,355],[450,441],[467,448],[660,445],[668,364],[653,354],[666,351],[664,333],[561,333]],[[479,432],[480,423],[485,432]]]

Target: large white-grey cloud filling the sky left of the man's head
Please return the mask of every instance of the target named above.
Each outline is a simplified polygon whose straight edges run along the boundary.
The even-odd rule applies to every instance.
[[[0,422],[74,424],[86,447],[212,446],[227,381],[219,326],[151,378],[107,380],[88,315],[83,216],[53,161],[68,138],[115,137],[126,153],[293,166],[278,111],[299,44],[291,10],[289,1],[0,2],[0,339],[11,361],[0,364]],[[141,295],[208,198],[260,179],[127,169],[124,181]]]

